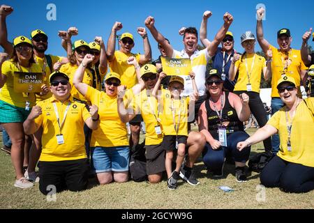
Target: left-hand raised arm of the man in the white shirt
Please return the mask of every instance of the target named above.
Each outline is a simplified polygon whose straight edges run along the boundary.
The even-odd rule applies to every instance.
[[[154,17],[151,17],[151,16],[147,17],[147,19],[145,20],[145,26],[147,26],[147,29],[149,29],[149,31],[151,32],[151,35],[161,45],[161,47],[165,49],[166,55],[168,57],[172,57],[173,48],[170,45],[170,43],[168,43],[168,41],[165,39],[165,37],[156,29]]]

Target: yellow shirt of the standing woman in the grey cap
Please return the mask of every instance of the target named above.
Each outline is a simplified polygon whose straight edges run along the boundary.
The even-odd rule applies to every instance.
[[[252,68],[254,55],[255,59]],[[246,59],[248,63],[248,69],[246,69]],[[266,67],[266,60],[264,59],[264,57],[257,54],[246,54],[245,56],[241,56],[239,61],[237,61],[234,66],[237,67],[239,70],[239,77],[237,80],[237,84],[234,86],[234,91],[247,91],[246,84],[248,84],[249,75],[250,84],[252,85],[252,91],[260,93],[260,79],[263,73],[263,68]]]

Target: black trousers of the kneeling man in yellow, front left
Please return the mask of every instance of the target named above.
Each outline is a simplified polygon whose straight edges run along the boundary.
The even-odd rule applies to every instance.
[[[39,190],[48,194],[52,190],[81,191],[88,183],[88,161],[67,160],[58,162],[38,162]]]

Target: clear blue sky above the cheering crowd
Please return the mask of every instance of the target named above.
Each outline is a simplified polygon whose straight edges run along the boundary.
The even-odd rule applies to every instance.
[[[57,6],[57,20],[48,21],[47,4],[54,3]],[[245,0],[245,1],[204,1],[204,0],[172,0],[172,1],[2,1],[1,4],[13,6],[13,14],[7,17],[8,38],[10,41],[16,36],[30,36],[34,29],[43,29],[49,36],[49,48],[47,52],[58,56],[64,56],[66,52],[61,48],[61,40],[57,36],[59,30],[67,30],[70,26],[77,26],[79,36],[73,40],[84,39],[87,42],[94,40],[95,36],[103,36],[107,45],[112,25],[115,21],[122,22],[124,28],[118,34],[124,32],[133,33],[135,47],[133,52],[143,52],[142,38],[137,34],[138,26],[144,26],[144,20],[148,15],[156,19],[156,28],[170,40],[174,49],[183,48],[182,38],[178,31],[181,26],[195,26],[200,28],[202,14],[205,10],[211,10],[212,17],[208,22],[208,38],[212,40],[223,24],[223,14],[232,13],[234,22],[230,31],[234,33],[235,49],[242,52],[239,44],[241,33],[253,31],[256,26],[256,6],[263,3],[266,6],[266,20],[264,24],[264,36],[269,43],[277,46],[276,32],[281,28],[288,28],[292,33],[292,47],[301,47],[301,36],[310,27],[314,28],[313,1],[269,1],[269,0]],[[149,32],[148,32],[149,33]],[[157,43],[149,33],[149,40],[153,50],[153,58],[159,55]],[[314,47],[314,43],[310,41]],[[257,45],[257,50],[260,47]]]

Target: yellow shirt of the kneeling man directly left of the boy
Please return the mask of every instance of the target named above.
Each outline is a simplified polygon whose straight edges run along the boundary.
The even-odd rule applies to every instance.
[[[164,89],[162,91],[165,91]],[[134,100],[131,102],[136,114],[141,114],[145,123],[145,145],[152,146],[158,145],[163,142],[163,133],[156,134],[155,127],[160,126],[163,131],[162,125],[158,123],[157,118],[161,118],[161,111],[158,112],[158,101],[151,95],[151,91],[144,89],[140,94],[135,95]]]

